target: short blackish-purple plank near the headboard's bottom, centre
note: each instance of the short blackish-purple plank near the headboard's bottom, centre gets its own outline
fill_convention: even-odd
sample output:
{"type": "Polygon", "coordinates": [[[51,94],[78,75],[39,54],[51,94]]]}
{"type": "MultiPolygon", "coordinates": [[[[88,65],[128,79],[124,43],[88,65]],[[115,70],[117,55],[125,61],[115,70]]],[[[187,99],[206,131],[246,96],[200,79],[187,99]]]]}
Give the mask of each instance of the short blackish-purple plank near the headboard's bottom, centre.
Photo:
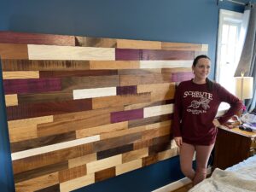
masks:
{"type": "Polygon", "coordinates": [[[110,148],[108,150],[99,151],[97,152],[97,160],[102,160],[102,159],[114,156],[116,154],[124,154],[132,150],[133,150],[133,144],[131,143],[131,144],[117,147],[117,148],[110,148]]]}

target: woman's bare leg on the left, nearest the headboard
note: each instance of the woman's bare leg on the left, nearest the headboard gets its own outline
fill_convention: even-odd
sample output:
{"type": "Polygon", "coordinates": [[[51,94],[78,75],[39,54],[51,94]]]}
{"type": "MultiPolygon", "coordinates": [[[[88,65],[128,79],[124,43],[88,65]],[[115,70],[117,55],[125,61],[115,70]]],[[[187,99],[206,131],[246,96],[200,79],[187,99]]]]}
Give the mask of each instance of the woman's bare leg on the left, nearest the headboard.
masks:
{"type": "Polygon", "coordinates": [[[180,148],[180,166],[183,174],[191,180],[195,177],[195,171],[192,167],[192,160],[195,153],[195,146],[183,143],[180,148]]]}

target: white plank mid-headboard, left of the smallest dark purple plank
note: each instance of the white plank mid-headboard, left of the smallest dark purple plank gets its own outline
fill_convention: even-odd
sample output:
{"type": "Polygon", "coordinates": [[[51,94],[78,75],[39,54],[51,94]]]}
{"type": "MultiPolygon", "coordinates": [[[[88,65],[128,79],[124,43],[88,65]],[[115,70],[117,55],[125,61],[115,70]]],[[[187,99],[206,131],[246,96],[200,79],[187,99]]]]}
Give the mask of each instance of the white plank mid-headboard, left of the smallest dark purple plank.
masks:
{"type": "Polygon", "coordinates": [[[116,96],[116,87],[73,90],[73,99],[95,98],[100,96],[116,96]]]}

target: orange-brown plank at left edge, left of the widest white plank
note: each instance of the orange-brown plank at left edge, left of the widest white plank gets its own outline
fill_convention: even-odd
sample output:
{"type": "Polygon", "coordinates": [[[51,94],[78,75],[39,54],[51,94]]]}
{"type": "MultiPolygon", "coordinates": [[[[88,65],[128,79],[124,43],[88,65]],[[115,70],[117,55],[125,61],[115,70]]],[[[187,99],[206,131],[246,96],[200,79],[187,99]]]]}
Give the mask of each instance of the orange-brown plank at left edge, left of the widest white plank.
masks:
{"type": "Polygon", "coordinates": [[[28,59],[26,44],[0,44],[1,59],[28,59]]]}

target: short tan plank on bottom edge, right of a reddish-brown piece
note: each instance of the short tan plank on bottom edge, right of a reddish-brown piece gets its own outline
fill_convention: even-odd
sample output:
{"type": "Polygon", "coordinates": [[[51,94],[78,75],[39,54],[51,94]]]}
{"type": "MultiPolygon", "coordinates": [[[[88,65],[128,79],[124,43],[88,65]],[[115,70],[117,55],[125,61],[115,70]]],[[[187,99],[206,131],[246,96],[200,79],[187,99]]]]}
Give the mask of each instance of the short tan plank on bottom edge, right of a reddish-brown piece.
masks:
{"type": "Polygon", "coordinates": [[[116,175],[120,175],[120,174],[123,174],[125,172],[131,172],[133,170],[141,168],[142,166],[143,166],[143,160],[142,159],[132,160],[130,162],[127,162],[127,163],[121,164],[119,166],[116,166],[115,172],[116,172],[116,175]]]}

